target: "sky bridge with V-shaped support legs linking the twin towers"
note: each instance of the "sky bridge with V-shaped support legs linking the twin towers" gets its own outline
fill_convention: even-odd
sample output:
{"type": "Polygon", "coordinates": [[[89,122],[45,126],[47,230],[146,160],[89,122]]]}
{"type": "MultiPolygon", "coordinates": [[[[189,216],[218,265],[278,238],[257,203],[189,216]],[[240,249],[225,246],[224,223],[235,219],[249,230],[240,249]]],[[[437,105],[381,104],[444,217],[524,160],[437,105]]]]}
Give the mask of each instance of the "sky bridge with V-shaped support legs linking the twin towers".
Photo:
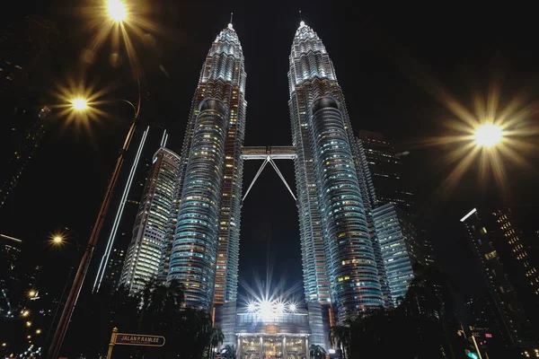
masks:
{"type": "Polygon", "coordinates": [[[271,167],[277,172],[278,177],[283,181],[285,186],[288,189],[288,192],[290,192],[290,195],[294,198],[295,201],[297,201],[296,196],[294,195],[294,191],[288,186],[287,180],[285,180],[284,176],[280,171],[278,171],[277,164],[274,162],[274,160],[295,160],[296,159],[296,148],[294,146],[243,146],[242,148],[242,160],[262,160],[261,168],[258,172],[256,172],[256,175],[254,175],[254,178],[252,179],[251,185],[249,185],[249,188],[245,191],[245,194],[243,195],[242,201],[245,200],[245,197],[249,194],[251,191],[252,186],[254,185],[254,182],[258,180],[259,176],[261,175],[261,172],[266,167],[266,164],[270,163],[271,167]]]}

